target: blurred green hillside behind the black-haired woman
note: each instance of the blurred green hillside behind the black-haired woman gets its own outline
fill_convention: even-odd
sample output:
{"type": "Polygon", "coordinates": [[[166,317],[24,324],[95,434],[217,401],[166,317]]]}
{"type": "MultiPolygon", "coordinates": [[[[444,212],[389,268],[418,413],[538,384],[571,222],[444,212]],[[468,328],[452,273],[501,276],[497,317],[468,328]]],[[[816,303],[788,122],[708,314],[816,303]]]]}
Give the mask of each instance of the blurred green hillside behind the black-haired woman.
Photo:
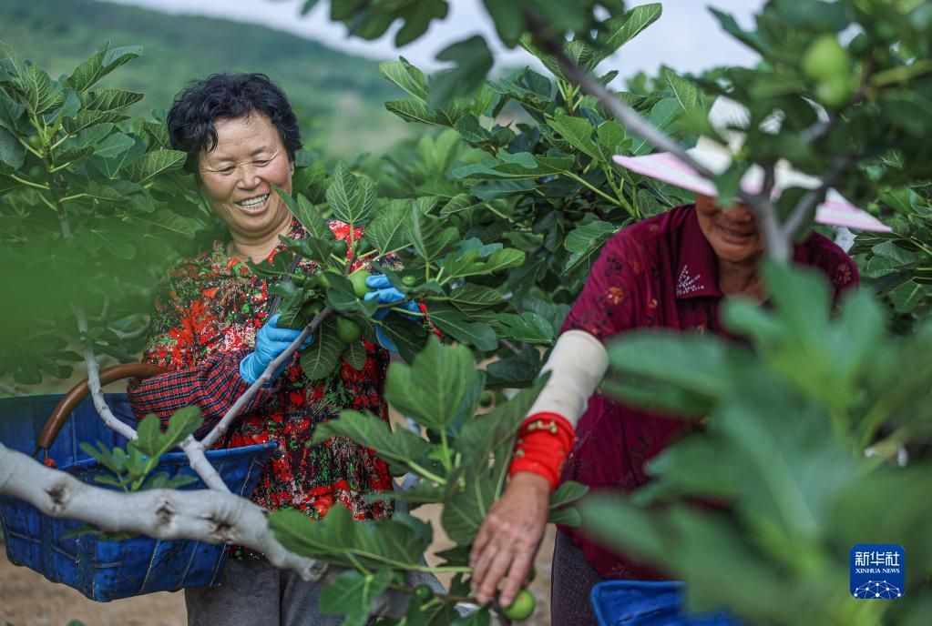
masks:
{"type": "MultiPolygon", "coordinates": [[[[291,10],[267,4],[270,11],[291,10]]],[[[105,82],[143,92],[137,113],[167,109],[191,79],[251,71],[267,73],[284,88],[306,147],[318,152],[349,158],[380,153],[410,132],[382,105],[399,92],[378,75],[377,62],[263,26],[96,0],[2,0],[0,40],[52,75],[70,73],[107,41],[143,46],[141,59],[105,82]]]]}

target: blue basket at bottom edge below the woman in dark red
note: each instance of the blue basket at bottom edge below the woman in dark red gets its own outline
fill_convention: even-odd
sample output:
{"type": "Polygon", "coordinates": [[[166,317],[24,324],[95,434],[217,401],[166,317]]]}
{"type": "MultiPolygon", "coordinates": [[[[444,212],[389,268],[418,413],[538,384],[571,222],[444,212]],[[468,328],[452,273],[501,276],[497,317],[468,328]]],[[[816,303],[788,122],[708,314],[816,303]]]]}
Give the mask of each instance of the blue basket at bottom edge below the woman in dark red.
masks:
{"type": "Polygon", "coordinates": [[[592,590],[599,626],[742,626],[724,612],[683,612],[679,580],[606,580],[592,590]]]}

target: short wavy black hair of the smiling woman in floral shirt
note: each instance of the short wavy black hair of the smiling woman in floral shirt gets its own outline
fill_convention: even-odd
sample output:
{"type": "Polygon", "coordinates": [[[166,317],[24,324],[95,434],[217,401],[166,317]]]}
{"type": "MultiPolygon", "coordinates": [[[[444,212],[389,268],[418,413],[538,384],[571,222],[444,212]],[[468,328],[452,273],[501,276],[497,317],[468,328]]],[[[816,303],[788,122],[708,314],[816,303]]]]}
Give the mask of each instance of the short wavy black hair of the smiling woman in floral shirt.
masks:
{"type": "Polygon", "coordinates": [[[279,131],[288,160],[301,149],[297,118],[284,92],[264,73],[215,73],[192,81],[168,114],[171,147],[187,153],[185,169],[198,175],[198,156],[217,145],[217,120],[262,113],[279,131]]]}

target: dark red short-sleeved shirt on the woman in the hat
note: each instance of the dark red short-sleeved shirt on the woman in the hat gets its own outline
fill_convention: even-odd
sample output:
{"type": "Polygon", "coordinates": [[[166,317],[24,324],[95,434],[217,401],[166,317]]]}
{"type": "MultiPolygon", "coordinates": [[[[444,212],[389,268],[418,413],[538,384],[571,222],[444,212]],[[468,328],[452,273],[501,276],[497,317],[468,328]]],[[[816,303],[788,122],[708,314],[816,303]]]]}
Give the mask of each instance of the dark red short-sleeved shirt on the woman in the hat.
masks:
{"type": "MultiPolygon", "coordinates": [[[[813,233],[794,247],[793,260],[821,270],[836,296],[857,286],[857,266],[829,239],[813,233]]],[[[602,249],[583,293],[563,325],[605,341],[635,328],[727,333],[719,324],[718,260],[693,206],[679,206],[615,234],[602,249]]],[[[648,482],[645,463],[694,422],[620,406],[596,392],[576,427],[576,444],[563,472],[592,491],[632,491],[648,482]]],[[[612,553],[562,527],[589,562],[609,579],[663,579],[662,574],[612,553]]]]}

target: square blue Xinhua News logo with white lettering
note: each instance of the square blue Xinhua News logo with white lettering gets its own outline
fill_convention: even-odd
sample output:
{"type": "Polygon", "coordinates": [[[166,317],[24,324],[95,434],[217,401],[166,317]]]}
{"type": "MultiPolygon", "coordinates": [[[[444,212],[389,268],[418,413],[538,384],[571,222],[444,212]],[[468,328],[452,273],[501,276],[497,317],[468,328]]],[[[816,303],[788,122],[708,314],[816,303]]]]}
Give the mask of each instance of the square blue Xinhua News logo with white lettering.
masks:
{"type": "Polygon", "coordinates": [[[851,549],[851,594],[859,600],[896,600],[906,593],[906,552],[896,543],[858,543],[851,549]]]}

